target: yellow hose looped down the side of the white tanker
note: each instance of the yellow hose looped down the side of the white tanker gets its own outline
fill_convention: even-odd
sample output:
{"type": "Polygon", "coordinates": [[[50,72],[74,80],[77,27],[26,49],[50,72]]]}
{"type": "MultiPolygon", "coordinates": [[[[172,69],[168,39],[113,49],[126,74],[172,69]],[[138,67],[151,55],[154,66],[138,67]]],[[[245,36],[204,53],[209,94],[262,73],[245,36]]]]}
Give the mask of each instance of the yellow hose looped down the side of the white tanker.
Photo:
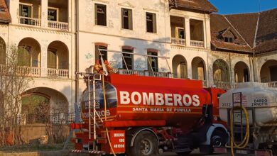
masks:
{"type": "MultiPolygon", "coordinates": [[[[241,118],[242,118],[242,116],[241,116],[241,118]]],[[[242,148],[245,148],[249,143],[249,136],[250,136],[249,114],[248,114],[248,111],[246,110],[246,108],[244,106],[235,106],[234,108],[232,108],[232,110],[231,110],[231,119],[230,119],[230,128],[231,128],[231,130],[230,130],[231,131],[231,152],[232,152],[232,156],[234,156],[234,147],[242,149],[242,148]],[[244,139],[242,140],[241,143],[239,143],[239,145],[237,145],[237,143],[234,142],[234,119],[233,119],[234,110],[244,111],[244,115],[245,115],[245,118],[246,118],[246,134],[244,135],[244,139]]]]}

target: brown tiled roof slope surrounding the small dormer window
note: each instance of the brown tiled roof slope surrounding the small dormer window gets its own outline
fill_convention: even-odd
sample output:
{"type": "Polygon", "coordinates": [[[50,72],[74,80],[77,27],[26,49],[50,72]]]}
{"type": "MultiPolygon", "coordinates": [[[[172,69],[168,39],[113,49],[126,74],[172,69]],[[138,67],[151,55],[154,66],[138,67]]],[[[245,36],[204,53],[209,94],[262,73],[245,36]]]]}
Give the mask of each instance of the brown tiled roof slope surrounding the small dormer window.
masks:
{"type": "Polygon", "coordinates": [[[251,47],[247,45],[245,40],[241,38],[241,35],[237,32],[235,28],[227,21],[222,15],[211,14],[211,43],[214,48],[220,50],[232,50],[239,52],[253,52],[251,47]],[[230,31],[234,35],[234,43],[224,42],[222,36],[226,31],[230,31]]]}

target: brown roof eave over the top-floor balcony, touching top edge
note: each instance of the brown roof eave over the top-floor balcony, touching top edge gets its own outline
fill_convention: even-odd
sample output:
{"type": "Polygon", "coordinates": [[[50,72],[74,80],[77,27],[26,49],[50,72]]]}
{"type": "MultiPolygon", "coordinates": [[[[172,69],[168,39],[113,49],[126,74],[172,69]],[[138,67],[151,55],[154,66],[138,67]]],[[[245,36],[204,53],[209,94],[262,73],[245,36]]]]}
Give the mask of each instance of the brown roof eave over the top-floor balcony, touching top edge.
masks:
{"type": "MultiPolygon", "coordinates": [[[[199,11],[217,12],[217,8],[213,6],[210,1],[207,0],[175,0],[177,4],[175,6],[180,8],[195,9],[199,11]]],[[[171,1],[171,6],[174,6],[174,2],[171,1]]]]}

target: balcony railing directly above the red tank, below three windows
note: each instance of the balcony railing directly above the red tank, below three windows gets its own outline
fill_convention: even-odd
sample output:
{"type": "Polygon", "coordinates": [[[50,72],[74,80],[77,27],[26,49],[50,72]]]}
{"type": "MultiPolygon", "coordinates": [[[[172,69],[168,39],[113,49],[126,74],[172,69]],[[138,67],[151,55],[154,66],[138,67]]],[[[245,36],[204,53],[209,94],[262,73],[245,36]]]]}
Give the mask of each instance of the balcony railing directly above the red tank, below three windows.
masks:
{"type": "Polygon", "coordinates": [[[127,70],[127,69],[119,69],[119,74],[136,74],[139,76],[146,76],[146,77],[165,77],[165,78],[172,78],[172,74],[168,72],[149,72],[148,70],[127,70]]]}

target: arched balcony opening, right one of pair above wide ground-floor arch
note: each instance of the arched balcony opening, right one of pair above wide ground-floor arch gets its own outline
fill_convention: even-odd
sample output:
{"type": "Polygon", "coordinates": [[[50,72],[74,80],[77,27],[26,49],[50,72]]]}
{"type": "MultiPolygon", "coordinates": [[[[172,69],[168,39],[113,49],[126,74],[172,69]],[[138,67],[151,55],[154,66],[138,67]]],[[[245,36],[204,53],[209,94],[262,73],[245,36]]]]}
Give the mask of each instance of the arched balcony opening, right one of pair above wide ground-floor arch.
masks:
{"type": "Polygon", "coordinates": [[[48,46],[48,76],[68,77],[68,48],[65,43],[54,41],[48,46]]]}

